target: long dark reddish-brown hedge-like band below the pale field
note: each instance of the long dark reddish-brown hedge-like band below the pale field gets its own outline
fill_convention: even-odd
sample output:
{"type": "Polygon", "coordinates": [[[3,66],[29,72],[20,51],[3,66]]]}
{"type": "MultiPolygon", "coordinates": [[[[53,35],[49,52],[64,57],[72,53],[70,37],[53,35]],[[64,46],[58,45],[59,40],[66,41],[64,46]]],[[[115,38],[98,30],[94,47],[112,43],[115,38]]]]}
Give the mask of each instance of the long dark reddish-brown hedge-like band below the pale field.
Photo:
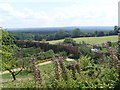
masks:
{"type": "Polygon", "coordinates": [[[72,46],[64,46],[64,45],[53,45],[49,43],[40,43],[40,42],[29,42],[29,41],[16,41],[16,45],[21,48],[29,48],[29,47],[40,47],[44,52],[52,49],[55,53],[65,51],[67,55],[74,54],[74,56],[78,56],[78,47],[72,46]],[[25,46],[24,46],[25,45],[25,46]]]}

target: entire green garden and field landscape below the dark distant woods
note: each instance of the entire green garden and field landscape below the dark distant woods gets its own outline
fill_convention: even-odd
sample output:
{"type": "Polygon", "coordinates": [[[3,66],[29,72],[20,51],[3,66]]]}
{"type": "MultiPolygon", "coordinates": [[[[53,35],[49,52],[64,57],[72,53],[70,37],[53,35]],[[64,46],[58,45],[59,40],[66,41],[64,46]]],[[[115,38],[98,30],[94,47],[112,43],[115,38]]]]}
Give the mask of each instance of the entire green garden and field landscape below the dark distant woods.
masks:
{"type": "MultiPolygon", "coordinates": [[[[29,36],[17,40],[15,34],[18,33],[2,28],[1,31],[3,57],[0,77],[3,78],[3,88],[82,89],[119,86],[117,47],[120,36],[116,34],[119,27],[112,31],[113,36],[105,36],[103,33],[106,32],[102,32],[104,36],[101,37],[80,37],[80,29],[74,29],[69,35],[79,38],[66,37],[54,41],[27,40],[29,36]]],[[[58,31],[61,32],[65,33],[58,31]]]]}

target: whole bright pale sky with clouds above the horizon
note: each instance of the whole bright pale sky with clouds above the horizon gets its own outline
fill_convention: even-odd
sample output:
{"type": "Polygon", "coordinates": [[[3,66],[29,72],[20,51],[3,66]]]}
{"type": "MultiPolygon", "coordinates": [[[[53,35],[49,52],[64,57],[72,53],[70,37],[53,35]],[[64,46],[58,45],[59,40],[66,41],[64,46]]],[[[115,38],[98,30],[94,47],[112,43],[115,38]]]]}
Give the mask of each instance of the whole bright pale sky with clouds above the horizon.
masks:
{"type": "Polygon", "coordinates": [[[3,28],[115,26],[119,0],[0,0],[3,28]]]}

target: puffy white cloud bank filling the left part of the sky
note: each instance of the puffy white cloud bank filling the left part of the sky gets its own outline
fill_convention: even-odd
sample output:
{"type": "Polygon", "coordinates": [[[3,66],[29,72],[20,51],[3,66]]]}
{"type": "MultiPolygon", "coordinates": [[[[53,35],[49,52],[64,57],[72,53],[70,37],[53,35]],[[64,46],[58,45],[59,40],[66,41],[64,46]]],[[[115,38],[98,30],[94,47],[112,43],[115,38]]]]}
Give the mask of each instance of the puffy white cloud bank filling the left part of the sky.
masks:
{"type": "Polygon", "coordinates": [[[10,4],[0,4],[0,24],[3,27],[32,27],[47,25],[51,19],[44,11],[25,8],[16,11],[10,4]]]}

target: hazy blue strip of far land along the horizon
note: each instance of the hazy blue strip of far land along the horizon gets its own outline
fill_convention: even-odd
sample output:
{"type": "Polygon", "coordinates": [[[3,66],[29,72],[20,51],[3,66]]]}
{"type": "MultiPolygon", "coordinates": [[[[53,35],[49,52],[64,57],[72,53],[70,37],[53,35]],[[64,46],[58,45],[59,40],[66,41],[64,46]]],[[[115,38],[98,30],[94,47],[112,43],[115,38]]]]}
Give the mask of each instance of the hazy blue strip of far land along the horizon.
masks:
{"type": "Polygon", "coordinates": [[[56,32],[59,30],[64,30],[64,31],[72,31],[76,28],[79,28],[81,31],[89,31],[89,32],[93,32],[93,31],[113,31],[114,30],[114,26],[68,26],[68,27],[32,27],[32,28],[7,28],[7,31],[17,31],[17,32],[21,32],[21,31],[27,31],[27,32],[43,32],[43,31],[52,31],[52,32],[56,32]]]}

